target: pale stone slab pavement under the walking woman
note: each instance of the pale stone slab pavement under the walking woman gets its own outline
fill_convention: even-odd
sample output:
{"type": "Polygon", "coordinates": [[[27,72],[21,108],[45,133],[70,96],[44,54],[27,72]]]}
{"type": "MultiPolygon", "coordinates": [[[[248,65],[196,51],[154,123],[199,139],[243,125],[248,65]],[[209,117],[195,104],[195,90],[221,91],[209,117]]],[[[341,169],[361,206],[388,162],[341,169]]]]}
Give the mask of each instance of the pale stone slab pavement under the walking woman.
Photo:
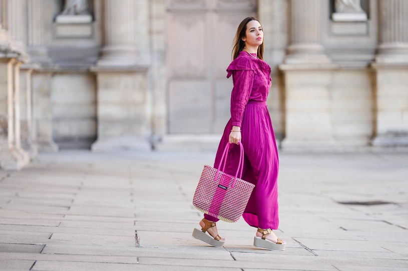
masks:
{"type": "Polygon", "coordinates": [[[281,153],[284,251],[253,247],[242,219],[218,223],[224,247],[191,237],[192,195],[213,158],[61,151],[0,171],[0,269],[408,269],[406,153],[281,153]],[[339,203],[352,201],[367,205],[339,203]]]}

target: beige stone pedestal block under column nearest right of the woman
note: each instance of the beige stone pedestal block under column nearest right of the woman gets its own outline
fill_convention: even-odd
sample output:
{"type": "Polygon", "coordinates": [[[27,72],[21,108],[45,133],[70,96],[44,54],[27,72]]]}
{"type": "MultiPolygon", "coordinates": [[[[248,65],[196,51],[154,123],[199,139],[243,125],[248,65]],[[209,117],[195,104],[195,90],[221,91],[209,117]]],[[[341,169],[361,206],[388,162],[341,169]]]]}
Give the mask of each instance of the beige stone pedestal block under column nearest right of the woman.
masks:
{"type": "Polygon", "coordinates": [[[302,148],[307,143],[331,147],[331,70],[298,70],[285,67],[285,139],[283,148],[302,148]],[[303,143],[302,143],[303,142],[303,143]],[[312,143],[314,142],[314,143],[312,143]]]}

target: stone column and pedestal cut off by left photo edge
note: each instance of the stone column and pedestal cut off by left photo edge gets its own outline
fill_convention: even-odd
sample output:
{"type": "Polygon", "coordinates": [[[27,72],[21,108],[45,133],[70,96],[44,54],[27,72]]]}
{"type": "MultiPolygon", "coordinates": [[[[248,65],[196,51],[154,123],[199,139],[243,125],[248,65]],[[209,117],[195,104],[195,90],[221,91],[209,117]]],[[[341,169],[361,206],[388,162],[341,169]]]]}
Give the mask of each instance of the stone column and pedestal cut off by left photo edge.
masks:
{"type": "Polygon", "coordinates": [[[22,61],[27,61],[25,26],[16,25],[21,24],[22,3],[0,1],[0,167],[6,170],[19,170],[29,162],[20,138],[19,72],[22,61]]]}

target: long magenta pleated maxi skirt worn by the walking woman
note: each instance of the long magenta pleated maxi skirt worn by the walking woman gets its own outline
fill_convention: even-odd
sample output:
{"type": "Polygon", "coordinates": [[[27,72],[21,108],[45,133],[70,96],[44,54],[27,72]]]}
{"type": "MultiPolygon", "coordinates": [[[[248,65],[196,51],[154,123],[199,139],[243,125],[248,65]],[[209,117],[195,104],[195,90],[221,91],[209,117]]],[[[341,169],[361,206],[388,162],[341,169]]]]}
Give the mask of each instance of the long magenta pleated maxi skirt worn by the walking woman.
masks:
{"type": "MultiPolygon", "coordinates": [[[[214,167],[216,168],[228,143],[231,128],[230,119],[225,126],[215,156],[214,167]]],[[[253,227],[277,229],[279,157],[266,101],[248,101],[242,118],[241,136],[245,152],[242,179],[255,184],[242,216],[253,227]]],[[[226,173],[235,175],[239,151],[239,146],[236,144],[230,147],[225,166],[226,173]]],[[[204,217],[212,221],[218,220],[208,214],[204,214],[204,217]]]]}

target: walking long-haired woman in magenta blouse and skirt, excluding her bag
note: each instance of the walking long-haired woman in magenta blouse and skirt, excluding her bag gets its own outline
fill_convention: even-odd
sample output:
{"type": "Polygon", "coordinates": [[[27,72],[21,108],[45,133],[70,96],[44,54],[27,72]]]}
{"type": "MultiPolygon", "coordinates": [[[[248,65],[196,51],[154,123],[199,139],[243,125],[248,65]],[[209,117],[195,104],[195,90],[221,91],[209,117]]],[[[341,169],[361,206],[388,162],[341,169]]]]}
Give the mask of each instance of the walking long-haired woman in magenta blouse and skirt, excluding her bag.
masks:
{"type": "MultiPolygon", "coordinates": [[[[242,142],[245,153],[242,179],[255,184],[242,216],[250,226],[257,228],[255,246],[283,250],[286,243],[272,231],[279,224],[279,159],[266,105],[272,81],[271,68],[263,61],[263,31],[258,19],[247,17],[239,24],[233,59],[227,68],[227,78],[232,75],[234,85],[231,118],[219,143],[214,167],[218,166],[225,145],[233,143],[224,172],[234,175],[240,153],[239,146],[235,144],[242,142]]],[[[225,240],[218,234],[217,221],[216,217],[204,214],[200,221],[201,231],[195,231],[193,236],[214,246],[222,246],[225,240]]]]}

